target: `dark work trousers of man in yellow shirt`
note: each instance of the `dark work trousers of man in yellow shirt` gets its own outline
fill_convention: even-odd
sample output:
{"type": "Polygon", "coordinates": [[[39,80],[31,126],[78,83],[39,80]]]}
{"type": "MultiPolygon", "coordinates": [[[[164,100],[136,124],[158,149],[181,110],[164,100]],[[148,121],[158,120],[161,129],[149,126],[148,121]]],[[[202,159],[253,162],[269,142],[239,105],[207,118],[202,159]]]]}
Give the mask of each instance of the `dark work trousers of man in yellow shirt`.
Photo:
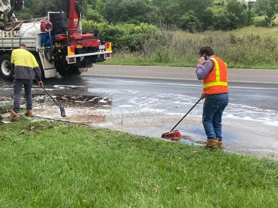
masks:
{"type": "Polygon", "coordinates": [[[24,92],[25,92],[25,99],[26,99],[26,109],[31,110],[32,109],[32,85],[33,80],[28,79],[14,79],[13,80],[13,111],[15,113],[19,112],[20,108],[20,98],[21,98],[21,90],[22,85],[24,86],[24,92]]]}

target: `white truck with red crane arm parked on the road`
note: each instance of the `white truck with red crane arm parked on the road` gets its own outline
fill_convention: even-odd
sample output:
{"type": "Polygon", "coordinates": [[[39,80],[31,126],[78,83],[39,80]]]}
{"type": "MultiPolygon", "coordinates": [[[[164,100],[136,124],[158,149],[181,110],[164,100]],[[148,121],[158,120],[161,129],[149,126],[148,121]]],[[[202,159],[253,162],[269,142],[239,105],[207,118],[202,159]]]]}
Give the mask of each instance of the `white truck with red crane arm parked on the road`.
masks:
{"type": "Polygon", "coordinates": [[[0,0],[0,76],[13,79],[11,51],[24,43],[41,69],[42,78],[76,76],[92,63],[111,58],[111,43],[98,36],[98,30],[82,30],[81,1],[65,0],[67,11],[48,12],[46,17],[23,19],[23,0],[0,0]],[[39,25],[39,30],[35,30],[39,25]],[[28,31],[35,31],[28,34],[28,31]],[[23,31],[24,30],[24,31],[23,31]],[[25,33],[24,33],[25,32],[25,33]]]}

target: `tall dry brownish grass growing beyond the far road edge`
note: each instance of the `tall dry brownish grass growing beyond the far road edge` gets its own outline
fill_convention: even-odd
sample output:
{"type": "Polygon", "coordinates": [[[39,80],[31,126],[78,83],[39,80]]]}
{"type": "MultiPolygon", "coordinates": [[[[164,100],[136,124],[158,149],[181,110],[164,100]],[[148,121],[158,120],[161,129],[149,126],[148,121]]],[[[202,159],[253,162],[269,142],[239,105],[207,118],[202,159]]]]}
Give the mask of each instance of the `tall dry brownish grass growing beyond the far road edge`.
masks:
{"type": "Polygon", "coordinates": [[[199,48],[210,46],[217,56],[233,65],[278,64],[278,41],[271,33],[267,36],[223,31],[189,33],[177,27],[159,26],[156,31],[139,34],[136,42],[135,52],[118,51],[116,57],[124,56],[126,60],[130,55],[130,61],[137,63],[193,63],[198,58],[199,48]]]}

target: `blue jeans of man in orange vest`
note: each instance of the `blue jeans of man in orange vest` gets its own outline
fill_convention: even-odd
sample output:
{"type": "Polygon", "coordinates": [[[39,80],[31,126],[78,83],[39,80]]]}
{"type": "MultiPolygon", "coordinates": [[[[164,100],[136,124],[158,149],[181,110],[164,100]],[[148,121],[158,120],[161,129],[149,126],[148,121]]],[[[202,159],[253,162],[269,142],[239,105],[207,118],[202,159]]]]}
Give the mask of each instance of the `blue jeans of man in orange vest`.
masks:
{"type": "Polygon", "coordinates": [[[205,96],[202,124],[207,139],[222,140],[222,114],[228,102],[228,93],[205,96]]]}

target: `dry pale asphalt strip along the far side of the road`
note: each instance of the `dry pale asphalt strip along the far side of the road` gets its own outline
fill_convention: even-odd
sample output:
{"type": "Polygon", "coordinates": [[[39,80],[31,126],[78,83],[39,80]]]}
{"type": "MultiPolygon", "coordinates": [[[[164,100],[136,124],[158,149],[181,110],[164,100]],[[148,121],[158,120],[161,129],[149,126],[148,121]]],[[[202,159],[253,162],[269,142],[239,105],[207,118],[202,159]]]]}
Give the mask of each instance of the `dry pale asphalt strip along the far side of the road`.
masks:
{"type": "MultiPolygon", "coordinates": [[[[278,84],[278,70],[228,69],[228,73],[228,79],[232,82],[278,84]]],[[[188,67],[95,65],[93,69],[83,74],[109,77],[196,80],[195,68],[188,67]]]]}

